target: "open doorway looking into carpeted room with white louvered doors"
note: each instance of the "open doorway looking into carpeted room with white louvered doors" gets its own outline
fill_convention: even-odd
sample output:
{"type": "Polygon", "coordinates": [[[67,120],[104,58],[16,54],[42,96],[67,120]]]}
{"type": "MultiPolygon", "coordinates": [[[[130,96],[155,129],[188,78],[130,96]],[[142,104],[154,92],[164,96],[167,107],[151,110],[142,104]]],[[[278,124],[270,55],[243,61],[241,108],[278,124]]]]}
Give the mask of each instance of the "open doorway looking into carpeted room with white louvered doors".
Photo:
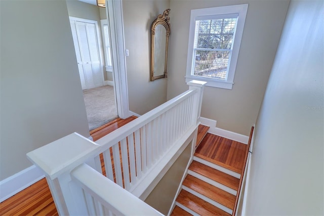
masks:
{"type": "MultiPolygon", "coordinates": [[[[102,22],[102,24],[107,25],[107,22],[102,22]]],[[[102,28],[102,34],[100,34],[96,20],[70,17],[70,25],[89,130],[92,131],[118,118],[113,81],[111,80],[112,66],[109,43],[107,45],[109,42],[108,31],[107,27],[102,28]],[[102,40],[101,35],[103,36],[102,40]],[[110,80],[107,80],[108,75],[110,75],[110,80]]]]}

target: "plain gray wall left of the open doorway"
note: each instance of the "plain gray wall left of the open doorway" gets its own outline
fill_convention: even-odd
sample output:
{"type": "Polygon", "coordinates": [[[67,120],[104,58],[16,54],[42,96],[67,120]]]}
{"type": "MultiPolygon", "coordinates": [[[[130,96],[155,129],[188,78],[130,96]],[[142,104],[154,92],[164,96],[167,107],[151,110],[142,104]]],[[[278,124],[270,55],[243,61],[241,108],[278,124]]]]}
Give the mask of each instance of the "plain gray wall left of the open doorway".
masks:
{"type": "Polygon", "coordinates": [[[74,131],[89,137],[65,1],[0,1],[0,180],[26,153],[74,131]]]}

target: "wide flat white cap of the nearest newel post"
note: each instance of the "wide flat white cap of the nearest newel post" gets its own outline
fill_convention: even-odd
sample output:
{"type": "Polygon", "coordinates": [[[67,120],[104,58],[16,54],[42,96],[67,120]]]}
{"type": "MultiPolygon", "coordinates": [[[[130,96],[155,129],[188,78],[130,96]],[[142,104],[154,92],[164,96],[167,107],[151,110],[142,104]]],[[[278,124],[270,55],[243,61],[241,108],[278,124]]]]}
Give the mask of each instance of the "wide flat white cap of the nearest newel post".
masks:
{"type": "Polygon", "coordinates": [[[99,153],[98,144],[74,132],[27,153],[27,158],[53,180],[99,153]]]}

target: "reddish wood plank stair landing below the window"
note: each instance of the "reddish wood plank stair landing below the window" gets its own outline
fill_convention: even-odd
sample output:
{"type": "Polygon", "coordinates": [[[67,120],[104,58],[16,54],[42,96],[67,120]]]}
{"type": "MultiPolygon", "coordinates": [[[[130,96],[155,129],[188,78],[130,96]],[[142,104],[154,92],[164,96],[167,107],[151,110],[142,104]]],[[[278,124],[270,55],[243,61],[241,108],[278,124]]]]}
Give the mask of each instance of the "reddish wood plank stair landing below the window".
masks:
{"type": "Polygon", "coordinates": [[[247,150],[244,143],[207,133],[195,156],[241,173],[247,150]]]}

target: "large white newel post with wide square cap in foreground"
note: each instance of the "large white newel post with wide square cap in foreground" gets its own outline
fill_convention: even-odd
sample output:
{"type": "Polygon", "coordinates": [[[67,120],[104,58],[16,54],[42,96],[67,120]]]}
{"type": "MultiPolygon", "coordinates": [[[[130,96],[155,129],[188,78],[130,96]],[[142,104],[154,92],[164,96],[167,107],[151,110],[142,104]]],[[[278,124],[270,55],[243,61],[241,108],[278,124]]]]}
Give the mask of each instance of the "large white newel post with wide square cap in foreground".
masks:
{"type": "Polygon", "coordinates": [[[71,180],[70,172],[83,163],[94,164],[100,146],[72,133],[27,153],[27,158],[45,172],[60,215],[88,215],[83,191],[71,180]]]}

